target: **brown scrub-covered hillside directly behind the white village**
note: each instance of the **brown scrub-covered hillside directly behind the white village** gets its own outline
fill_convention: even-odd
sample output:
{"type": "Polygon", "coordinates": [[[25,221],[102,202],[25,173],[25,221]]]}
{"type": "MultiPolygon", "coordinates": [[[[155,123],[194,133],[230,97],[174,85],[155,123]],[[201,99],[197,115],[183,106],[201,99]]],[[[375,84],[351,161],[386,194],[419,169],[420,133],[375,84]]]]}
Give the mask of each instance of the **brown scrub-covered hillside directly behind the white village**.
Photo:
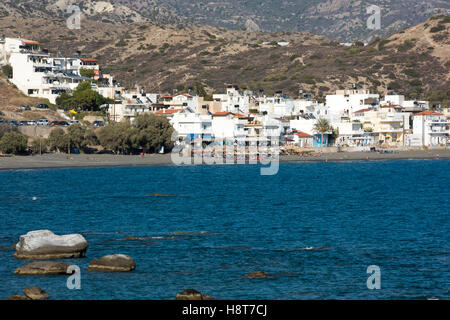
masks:
{"type": "Polygon", "coordinates": [[[351,48],[304,32],[91,20],[83,20],[82,32],[64,26],[62,19],[0,19],[6,35],[26,35],[65,55],[80,49],[98,58],[103,71],[125,85],[139,84],[148,91],[184,90],[201,82],[210,93],[238,84],[268,93],[282,89],[294,96],[303,89],[320,98],[359,84],[382,93],[395,90],[410,98],[442,100],[450,87],[448,16],[435,16],[369,46],[351,48]],[[279,46],[279,41],[289,45],[279,46]]]}

